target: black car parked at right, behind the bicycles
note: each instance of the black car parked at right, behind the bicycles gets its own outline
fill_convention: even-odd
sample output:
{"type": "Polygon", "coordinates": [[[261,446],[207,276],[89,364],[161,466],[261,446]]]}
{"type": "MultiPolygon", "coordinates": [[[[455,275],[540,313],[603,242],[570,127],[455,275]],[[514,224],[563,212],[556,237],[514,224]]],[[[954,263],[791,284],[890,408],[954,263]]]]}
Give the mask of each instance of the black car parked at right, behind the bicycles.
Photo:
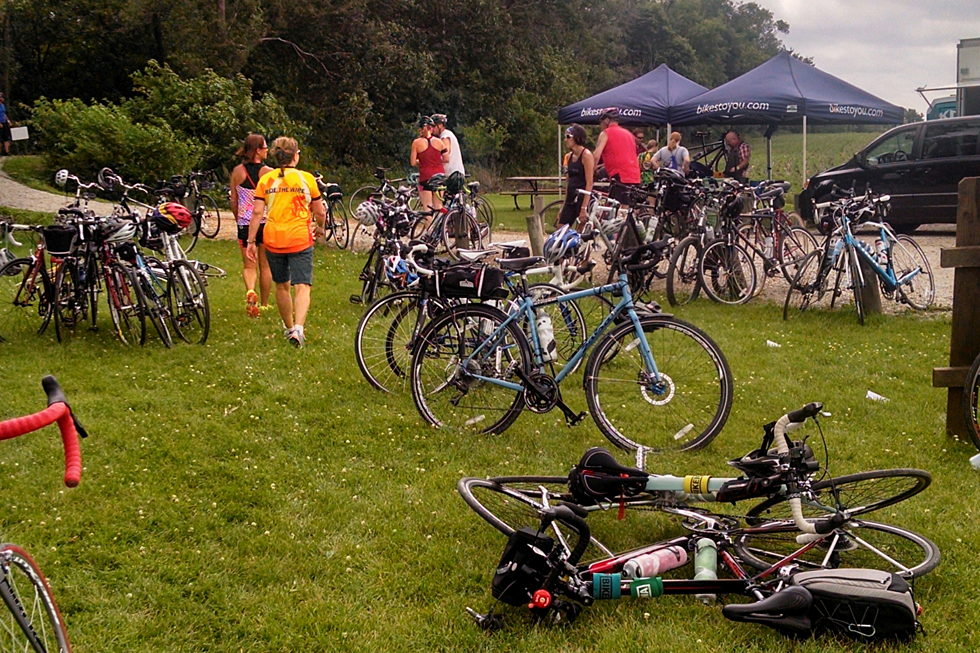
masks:
{"type": "Polygon", "coordinates": [[[833,185],[891,196],[888,222],[910,233],[933,222],[956,222],[957,185],[980,177],[980,116],[930,120],[885,132],[847,163],[813,177],[796,209],[813,222],[812,201],[826,202],[833,185]]]}

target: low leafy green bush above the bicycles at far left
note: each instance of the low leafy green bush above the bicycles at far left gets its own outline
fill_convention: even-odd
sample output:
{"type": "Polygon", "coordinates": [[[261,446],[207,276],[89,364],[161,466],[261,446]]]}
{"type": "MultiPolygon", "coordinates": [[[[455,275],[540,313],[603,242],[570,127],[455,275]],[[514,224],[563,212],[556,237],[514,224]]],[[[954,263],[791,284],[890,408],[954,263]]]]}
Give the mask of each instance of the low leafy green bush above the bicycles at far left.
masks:
{"type": "Polygon", "coordinates": [[[48,167],[68,168],[81,179],[109,166],[123,179],[152,182],[200,161],[198,148],[166,123],[136,123],[113,104],[41,98],[31,124],[48,167]]]}

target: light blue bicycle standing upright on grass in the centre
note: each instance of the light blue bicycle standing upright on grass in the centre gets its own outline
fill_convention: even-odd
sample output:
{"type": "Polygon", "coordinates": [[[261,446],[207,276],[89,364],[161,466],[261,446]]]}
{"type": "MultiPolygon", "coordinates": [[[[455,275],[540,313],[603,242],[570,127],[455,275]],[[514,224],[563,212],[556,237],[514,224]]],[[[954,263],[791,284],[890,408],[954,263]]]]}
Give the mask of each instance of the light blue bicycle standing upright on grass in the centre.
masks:
{"type": "MultiPolygon", "coordinates": [[[[633,266],[629,259],[662,247],[636,248],[613,284],[540,301],[525,296],[508,313],[464,304],[434,318],[412,355],[412,398],[419,413],[434,426],[483,433],[503,432],[525,406],[535,413],[557,407],[569,425],[578,424],[586,413],[565,404],[560,384],[591,349],[583,385],[603,435],[627,450],[705,446],[731,408],[728,363],[697,327],[672,316],[638,316],[627,281],[627,272],[651,265],[633,266]],[[608,293],[621,294],[619,303],[552,377],[546,372],[550,342],[542,339],[548,334],[537,324],[538,309],[608,293]],[[618,319],[622,323],[606,333],[618,319]],[[655,433],[658,441],[641,432],[655,433]]],[[[521,273],[539,262],[530,257],[499,264],[521,273]]]]}

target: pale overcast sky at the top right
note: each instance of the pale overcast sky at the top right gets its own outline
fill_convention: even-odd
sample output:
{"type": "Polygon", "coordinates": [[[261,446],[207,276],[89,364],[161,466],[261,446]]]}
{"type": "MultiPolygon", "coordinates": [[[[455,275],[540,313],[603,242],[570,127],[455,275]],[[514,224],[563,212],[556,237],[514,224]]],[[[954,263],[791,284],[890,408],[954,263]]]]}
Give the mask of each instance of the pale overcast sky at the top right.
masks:
{"type": "Polygon", "coordinates": [[[817,68],[922,114],[927,105],[915,89],[955,83],[956,44],[980,37],[978,0],[754,2],[789,23],[783,43],[817,68]]]}

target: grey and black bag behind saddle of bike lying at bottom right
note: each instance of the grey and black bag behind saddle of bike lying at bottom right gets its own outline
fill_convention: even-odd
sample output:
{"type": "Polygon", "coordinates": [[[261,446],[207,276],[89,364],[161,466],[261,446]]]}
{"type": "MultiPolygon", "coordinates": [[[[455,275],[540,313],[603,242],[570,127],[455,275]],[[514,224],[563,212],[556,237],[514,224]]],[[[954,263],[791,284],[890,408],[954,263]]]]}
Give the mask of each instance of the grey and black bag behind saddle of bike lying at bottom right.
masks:
{"type": "Polygon", "coordinates": [[[813,596],[814,632],[830,631],[871,642],[911,639],[921,628],[912,589],[901,576],[876,569],[827,569],[794,575],[813,596]]]}

